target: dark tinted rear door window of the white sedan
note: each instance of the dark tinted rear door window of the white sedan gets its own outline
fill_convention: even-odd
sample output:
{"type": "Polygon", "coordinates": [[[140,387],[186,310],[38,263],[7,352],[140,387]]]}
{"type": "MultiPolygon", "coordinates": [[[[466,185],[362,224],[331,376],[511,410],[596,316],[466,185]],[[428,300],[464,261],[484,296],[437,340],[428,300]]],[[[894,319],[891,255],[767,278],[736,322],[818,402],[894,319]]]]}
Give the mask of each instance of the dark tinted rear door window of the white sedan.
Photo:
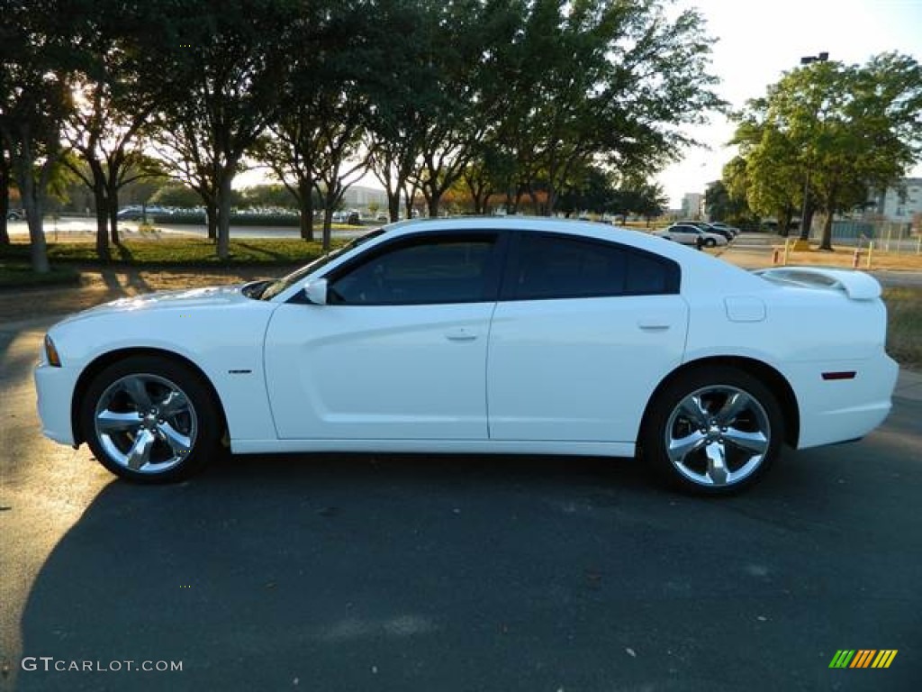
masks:
{"type": "Polygon", "coordinates": [[[545,300],[677,293],[679,277],[672,260],[625,245],[520,233],[503,282],[503,297],[545,300]]]}

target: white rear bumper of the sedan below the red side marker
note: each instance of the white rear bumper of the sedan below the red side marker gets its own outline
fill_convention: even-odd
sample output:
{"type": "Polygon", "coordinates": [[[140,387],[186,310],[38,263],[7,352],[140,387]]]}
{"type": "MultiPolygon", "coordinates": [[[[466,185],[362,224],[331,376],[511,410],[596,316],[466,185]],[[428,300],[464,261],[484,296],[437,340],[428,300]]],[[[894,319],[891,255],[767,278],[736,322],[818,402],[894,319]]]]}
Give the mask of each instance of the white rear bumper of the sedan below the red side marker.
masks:
{"type": "Polygon", "coordinates": [[[899,365],[889,356],[859,361],[795,364],[789,382],[798,383],[798,449],[854,440],[883,423],[892,407],[899,365]],[[823,372],[855,372],[852,379],[822,378],[823,372]]]}

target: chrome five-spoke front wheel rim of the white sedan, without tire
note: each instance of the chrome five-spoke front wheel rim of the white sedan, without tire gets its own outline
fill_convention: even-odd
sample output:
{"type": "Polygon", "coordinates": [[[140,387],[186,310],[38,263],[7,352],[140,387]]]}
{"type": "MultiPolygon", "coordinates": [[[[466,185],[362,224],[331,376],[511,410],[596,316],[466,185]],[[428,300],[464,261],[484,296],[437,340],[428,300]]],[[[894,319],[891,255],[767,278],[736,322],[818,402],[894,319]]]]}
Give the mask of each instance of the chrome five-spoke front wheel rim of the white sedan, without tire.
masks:
{"type": "Polygon", "coordinates": [[[162,473],[195,447],[195,407],[175,383],[132,374],[102,392],[93,415],[100,446],[115,464],[139,473],[162,473]]]}

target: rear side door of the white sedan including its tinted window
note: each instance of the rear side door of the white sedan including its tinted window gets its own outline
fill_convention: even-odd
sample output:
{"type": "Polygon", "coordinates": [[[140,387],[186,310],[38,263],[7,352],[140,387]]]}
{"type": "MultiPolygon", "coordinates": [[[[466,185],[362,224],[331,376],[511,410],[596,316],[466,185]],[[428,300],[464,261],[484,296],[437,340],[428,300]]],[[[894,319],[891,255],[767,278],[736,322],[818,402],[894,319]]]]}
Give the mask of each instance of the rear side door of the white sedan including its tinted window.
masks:
{"type": "Polygon", "coordinates": [[[491,324],[491,439],[633,442],[650,394],[682,359],[679,285],[664,257],[519,233],[491,324]]]}

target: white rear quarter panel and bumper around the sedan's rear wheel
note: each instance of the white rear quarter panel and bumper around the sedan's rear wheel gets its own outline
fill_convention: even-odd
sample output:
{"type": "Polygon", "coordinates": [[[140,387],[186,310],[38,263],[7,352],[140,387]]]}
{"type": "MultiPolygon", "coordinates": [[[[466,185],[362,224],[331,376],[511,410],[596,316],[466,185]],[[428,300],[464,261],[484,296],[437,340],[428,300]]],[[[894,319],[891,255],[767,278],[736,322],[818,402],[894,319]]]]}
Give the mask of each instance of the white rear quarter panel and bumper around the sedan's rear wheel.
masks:
{"type": "Polygon", "coordinates": [[[772,366],[797,400],[800,448],[855,439],[881,424],[898,370],[884,351],[887,315],[881,300],[764,283],[746,292],[688,295],[686,362],[742,356],[772,366]],[[764,305],[762,319],[754,311],[731,319],[733,304],[753,303],[764,305]],[[854,376],[826,379],[824,373],[854,376]]]}

